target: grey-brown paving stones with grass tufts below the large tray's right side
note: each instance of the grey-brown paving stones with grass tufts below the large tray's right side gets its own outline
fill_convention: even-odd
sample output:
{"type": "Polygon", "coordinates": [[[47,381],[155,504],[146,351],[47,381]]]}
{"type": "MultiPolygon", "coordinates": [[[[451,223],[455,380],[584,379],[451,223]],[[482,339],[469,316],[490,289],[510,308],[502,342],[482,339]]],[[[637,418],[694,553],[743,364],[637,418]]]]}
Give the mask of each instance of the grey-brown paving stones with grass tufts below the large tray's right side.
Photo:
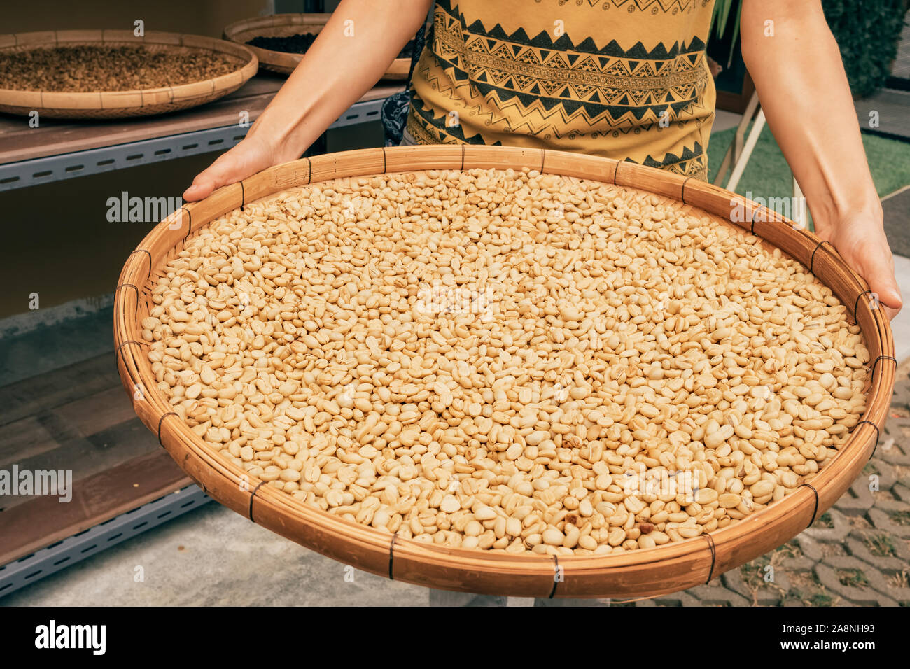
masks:
{"type": "Polygon", "coordinates": [[[627,606],[910,606],[910,363],[875,455],[793,541],[681,593],[627,606]]]}

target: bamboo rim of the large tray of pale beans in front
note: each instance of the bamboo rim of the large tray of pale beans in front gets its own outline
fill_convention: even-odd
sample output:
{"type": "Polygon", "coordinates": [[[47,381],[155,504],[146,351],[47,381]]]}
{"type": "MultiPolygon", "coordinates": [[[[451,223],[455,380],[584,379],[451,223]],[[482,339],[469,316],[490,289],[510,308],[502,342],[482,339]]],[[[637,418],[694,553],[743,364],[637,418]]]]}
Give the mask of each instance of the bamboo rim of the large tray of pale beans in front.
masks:
{"type": "Polygon", "coordinates": [[[210,496],[268,529],[370,573],[435,588],[537,597],[639,597],[707,583],[773,550],[802,532],[853,483],[875,450],[895,380],[891,329],[884,309],[874,308],[868,292],[863,279],[844,265],[830,244],[820,243],[813,234],[794,228],[790,221],[750,200],[693,178],[561,151],[460,145],[389,147],[270,167],[179,209],[153,228],[127,258],[116,289],[114,331],[120,376],[141,420],[210,496]],[[596,557],[562,556],[557,561],[551,556],[444,548],[340,519],[261,485],[222,460],[170,411],[167,400],[157,392],[140,323],[147,316],[161,268],[183,248],[188,236],[252,200],[333,177],[471,167],[529,167],[638,188],[683,208],[708,212],[718,225],[732,225],[733,205],[741,205],[747,217],[738,224],[740,228],[753,229],[766,243],[811,268],[855,315],[874,362],[863,420],[811,484],[740,522],[653,549],[596,557]]]}

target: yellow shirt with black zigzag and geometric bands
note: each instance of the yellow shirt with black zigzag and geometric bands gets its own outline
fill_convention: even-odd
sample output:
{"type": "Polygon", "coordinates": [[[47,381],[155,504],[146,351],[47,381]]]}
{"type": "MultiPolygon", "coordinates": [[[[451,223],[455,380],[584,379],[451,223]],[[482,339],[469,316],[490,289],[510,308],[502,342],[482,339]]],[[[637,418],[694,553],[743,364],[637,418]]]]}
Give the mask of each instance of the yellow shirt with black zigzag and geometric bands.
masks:
{"type": "Polygon", "coordinates": [[[420,144],[545,147],[707,178],[713,0],[438,0],[420,144]]]}

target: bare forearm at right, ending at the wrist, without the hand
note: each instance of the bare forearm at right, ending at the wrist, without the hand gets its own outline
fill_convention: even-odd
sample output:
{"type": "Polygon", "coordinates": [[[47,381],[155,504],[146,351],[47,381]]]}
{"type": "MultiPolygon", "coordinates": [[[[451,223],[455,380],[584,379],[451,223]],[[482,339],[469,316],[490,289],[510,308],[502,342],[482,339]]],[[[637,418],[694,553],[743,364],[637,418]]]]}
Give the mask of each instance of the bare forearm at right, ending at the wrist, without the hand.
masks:
{"type": "Polygon", "coordinates": [[[847,212],[880,209],[840,51],[821,3],[743,0],[741,33],[743,60],[768,126],[816,228],[834,225],[847,212]],[[773,36],[766,35],[772,29],[773,36]]]}

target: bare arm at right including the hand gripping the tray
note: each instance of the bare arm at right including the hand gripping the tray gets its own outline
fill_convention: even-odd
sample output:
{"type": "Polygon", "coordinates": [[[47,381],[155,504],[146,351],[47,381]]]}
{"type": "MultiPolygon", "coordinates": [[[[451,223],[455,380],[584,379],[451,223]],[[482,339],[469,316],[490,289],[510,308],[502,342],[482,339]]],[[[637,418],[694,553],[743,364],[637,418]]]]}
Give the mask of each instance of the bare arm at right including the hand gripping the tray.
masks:
{"type": "Polygon", "coordinates": [[[882,204],[820,0],[743,0],[741,34],[743,60],[805,194],[815,234],[865,279],[870,305],[894,318],[903,299],[882,204]]]}

